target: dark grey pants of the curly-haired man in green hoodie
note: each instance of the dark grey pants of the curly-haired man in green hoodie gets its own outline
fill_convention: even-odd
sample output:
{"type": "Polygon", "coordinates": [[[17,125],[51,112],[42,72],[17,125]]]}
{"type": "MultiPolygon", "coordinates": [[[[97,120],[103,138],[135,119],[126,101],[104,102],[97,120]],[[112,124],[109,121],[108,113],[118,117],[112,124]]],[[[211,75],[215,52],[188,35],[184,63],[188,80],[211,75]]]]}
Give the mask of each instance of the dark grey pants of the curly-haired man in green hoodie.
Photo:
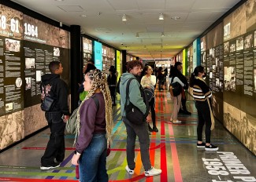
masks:
{"type": "Polygon", "coordinates": [[[128,167],[130,169],[135,168],[135,140],[136,136],[139,138],[140,157],[143,162],[145,170],[151,169],[150,162],[150,136],[148,135],[148,124],[143,122],[141,125],[135,125],[127,118],[123,117],[123,122],[126,127],[127,144],[126,144],[126,157],[128,167]]]}

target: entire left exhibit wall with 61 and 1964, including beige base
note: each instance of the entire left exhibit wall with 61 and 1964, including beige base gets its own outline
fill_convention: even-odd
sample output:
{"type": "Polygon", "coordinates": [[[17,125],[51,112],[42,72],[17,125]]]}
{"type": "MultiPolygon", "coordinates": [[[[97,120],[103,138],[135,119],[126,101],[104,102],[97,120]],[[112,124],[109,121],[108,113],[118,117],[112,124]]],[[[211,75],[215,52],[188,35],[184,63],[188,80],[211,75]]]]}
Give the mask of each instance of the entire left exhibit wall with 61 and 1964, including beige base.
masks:
{"type": "Polygon", "coordinates": [[[0,5],[0,150],[47,126],[40,84],[50,61],[69,85],[69,31],[13,8],[0,5]]]}

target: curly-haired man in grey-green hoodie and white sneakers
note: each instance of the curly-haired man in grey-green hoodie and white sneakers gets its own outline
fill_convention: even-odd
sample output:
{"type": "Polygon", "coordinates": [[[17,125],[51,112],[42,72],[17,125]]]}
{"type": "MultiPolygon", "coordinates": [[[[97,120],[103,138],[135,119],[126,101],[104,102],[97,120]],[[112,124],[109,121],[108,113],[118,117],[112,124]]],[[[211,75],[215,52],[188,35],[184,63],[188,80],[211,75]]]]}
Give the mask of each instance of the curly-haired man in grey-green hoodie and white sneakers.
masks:
{"type": "MultiPolygon", "coordinates": [[[[141,160],[143,163],[143,167],[145,169],[144,175],[146,177],[149,176],[155,176],[161,174],[161,169],[155,169],[153,166],[151,166],[150,162],[150,153],[149,153],[149,147],[150,147],[150,138],[148,135],[148,124],[147,122],[150,122],[151,116],[147,115],[147,122],[144,121],[141,125],[136,125],[132,122],[130,122],[125,115],[124,111],[124,104],[126,101],[126,88],[127,83],[130,78],[136,78],[136,76],[139,76],[141,74],[143,68],[143,64],[139,62],[139,60],[132,60],[129,61],[127,64],[128,72],[124,73],[121,76],[121,84],[120,84],[120,94],[121,94],[121,115],[123,116],[123,122],[126,127],[126,133],[127,133],[127,145],[126,145],[126,156],[127,156],[127,163],[128,166],[125,167],[128,174],[134,174],[135,169],[135,140],[136,136],[139,137],[139,146],[140,146],[140,154],[141,154],[141,160]]],[[[143,102],[143,97],[141,96],[141,91],[139,89],[140,84],[136,79],[132,79],[132,82],[130,82],[128,94],[130,99],[128,102],[132,102],[132,104],[135,107],[138,107],[140,111],[143,112],[145,115],[147,112],[147,106],[143,102]]]]}

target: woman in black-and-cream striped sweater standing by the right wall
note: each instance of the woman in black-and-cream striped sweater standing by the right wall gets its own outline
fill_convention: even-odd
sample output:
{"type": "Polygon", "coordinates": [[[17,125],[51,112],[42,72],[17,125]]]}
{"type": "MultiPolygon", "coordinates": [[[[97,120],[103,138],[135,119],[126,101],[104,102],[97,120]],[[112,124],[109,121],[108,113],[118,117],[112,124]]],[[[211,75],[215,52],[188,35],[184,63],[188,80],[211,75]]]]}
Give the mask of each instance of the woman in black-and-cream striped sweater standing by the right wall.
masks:
{"type": "Polygon", "coordinates": [[[191,74],[190,86],[193,88],[193,98],[198,111],[197,147],[205,148],[206,151],[217,151],[219,148],[210,143],[211,130],[214,129],[214,118],[211,107],[212,91],[204,81],[206,73],[204,67],[195,67],[191,74]],[[202,129],[205,127],[206,143],[202,142],[202,129]]]}

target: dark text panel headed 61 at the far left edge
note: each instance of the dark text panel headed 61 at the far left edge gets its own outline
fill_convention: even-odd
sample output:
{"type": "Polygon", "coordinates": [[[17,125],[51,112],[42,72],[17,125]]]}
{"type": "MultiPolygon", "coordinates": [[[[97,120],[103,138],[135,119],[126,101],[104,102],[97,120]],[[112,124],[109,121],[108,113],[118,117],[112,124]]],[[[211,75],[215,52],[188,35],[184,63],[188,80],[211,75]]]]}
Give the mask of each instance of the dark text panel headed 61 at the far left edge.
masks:
{"type": "Polygon", "coordinates": [[[24,108],[23,13],[0,5],[0,115],[24,108]]]}

